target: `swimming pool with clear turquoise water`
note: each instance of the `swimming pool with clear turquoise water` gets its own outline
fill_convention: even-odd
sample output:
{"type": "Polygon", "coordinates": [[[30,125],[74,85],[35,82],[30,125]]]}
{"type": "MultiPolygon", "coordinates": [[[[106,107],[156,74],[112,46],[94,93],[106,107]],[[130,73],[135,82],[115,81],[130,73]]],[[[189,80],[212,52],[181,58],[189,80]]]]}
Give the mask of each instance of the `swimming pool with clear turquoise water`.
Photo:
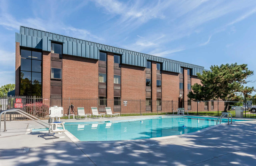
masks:
{"type": "MultiPolygon", "coordinates": [[[[108,122],[65,123],[80,141],[137,140],[196,132],[216,125],[211,117],[154,117],[108,122]]],[[[233,121],[242,121],[233,119],[233,121]]],[[[228,122],[222,119],[222,123],[228,122]]]]}

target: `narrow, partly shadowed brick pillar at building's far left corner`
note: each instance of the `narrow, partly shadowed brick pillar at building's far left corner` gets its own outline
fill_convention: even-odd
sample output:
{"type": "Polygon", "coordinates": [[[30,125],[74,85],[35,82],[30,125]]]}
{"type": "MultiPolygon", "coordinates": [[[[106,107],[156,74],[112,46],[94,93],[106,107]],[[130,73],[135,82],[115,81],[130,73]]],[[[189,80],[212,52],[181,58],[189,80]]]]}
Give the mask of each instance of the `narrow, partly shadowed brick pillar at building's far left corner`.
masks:
{"type": "Polygon", "coordinates": [[[20,43],[15,43],[15,95],[20,95],[20,43]]]}

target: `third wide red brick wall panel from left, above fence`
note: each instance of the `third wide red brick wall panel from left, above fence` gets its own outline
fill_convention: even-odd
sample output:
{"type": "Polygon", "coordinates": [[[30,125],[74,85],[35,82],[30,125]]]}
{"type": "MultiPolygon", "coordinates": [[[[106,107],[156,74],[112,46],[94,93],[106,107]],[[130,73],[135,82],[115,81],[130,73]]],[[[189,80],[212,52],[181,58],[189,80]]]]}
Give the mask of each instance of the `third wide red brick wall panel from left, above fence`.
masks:
{"type": "Polygon", "coordinates": [[[179,73],[162,71],[162,100],[178,101],[179,73]]]}

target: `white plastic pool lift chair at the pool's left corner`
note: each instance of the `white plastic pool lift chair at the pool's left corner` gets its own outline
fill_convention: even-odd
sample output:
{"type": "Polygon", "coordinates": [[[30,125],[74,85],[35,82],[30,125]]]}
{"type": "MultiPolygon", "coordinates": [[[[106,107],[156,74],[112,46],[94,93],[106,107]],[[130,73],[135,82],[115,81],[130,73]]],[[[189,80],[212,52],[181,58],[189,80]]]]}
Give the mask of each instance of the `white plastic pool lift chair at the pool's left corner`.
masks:
{"type": "Polygon", "coordinates": [[[49,133],[58,132],[60,134],[61,132],[66,131],[64,127],[65,122],[60,122],[60,117],[63,117],[63,107],[50,107],[49,117],[52,118],[51,123],[49,123],[49,133]],[[54,119],[56,120],[56,122],[54,122],[54,119]],[[58,129],[58,127],[62,127],[62,129],[58,129]]]}

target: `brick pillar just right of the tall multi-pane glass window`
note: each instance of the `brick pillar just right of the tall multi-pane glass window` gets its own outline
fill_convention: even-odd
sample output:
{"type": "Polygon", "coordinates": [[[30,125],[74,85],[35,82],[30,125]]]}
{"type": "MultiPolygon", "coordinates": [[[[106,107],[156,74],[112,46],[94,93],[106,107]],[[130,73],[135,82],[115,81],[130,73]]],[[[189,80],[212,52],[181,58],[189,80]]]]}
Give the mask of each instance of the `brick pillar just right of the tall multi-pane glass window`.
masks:
{"type": "Polygon", "coordinates": [[[51,94],[51,52],[43,51],[43,98],[50,98],[51,94]]]}

